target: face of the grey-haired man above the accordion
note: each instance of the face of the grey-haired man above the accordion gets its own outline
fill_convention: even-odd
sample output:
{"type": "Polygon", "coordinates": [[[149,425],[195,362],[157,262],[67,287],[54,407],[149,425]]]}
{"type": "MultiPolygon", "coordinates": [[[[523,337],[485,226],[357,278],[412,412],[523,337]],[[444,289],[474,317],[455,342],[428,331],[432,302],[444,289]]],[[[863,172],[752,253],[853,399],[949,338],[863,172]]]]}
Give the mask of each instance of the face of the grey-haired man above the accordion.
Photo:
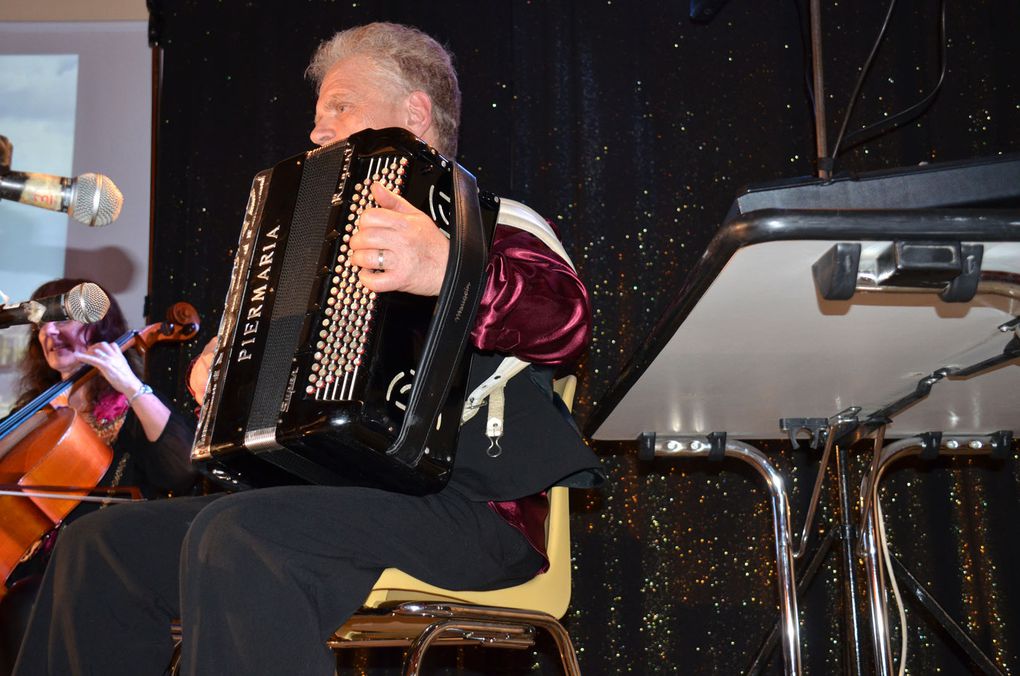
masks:
{"type": "Polygon", "coordinates": [[[367,128],[406,128],[406,99],[378,74],[370,59],[359,55],[341,59],[322,79],[312,143],[324,146],[367,128]]]}

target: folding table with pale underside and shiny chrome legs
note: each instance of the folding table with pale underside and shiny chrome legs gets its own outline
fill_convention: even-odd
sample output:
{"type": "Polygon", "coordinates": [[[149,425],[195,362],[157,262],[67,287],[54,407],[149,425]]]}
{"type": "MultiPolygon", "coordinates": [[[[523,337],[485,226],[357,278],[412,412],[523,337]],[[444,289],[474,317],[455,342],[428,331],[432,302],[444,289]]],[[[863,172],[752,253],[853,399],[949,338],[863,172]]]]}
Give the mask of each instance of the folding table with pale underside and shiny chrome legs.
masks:
{"type": "MultiPolygon", "coordinates": [[[[839,449],[875,435],[874,486],[886,433],[994,431],[989,446],[1008,444],[1003,430],[1020,429],[1020,369],[1004,366],[1020,358],[1018,314],[1020,211],[737,212],[585,431],[595,439],[640,437],[644,457],[738,457],[766,476],[786,673],[800,672],[786,495],[764,454],[734,439],[793,440],[808,430],[813,443],[824,441],[798,556],[835,449],[840,532],[850,533],[842,548],[848,657],[859,673],[858,515],[839,449]]],[[[870,505],[861,511],[865,523],[870,505]]],[[[880,579],[868,582],[872,600],[884,594],[880,579]]],[[[889,663],[884,632],[873,617],[879,673],[889,663]]]]}

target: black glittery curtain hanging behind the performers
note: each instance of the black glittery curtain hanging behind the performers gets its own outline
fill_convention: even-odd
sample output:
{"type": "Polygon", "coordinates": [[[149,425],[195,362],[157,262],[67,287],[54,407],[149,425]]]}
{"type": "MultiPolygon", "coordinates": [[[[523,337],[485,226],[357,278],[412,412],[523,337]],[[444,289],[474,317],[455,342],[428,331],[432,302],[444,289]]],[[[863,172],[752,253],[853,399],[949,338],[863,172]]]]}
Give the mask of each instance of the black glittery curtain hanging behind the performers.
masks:
{"type": "MultiPolygon", "coordinates": [[[[822,4],[831,143],[887,5],[822,4]]],[[[337,30],[393,20],[452,48],[464,92],[459,160],[483,189],[550,218],[593,293],[575,407],[583,423],[738,190],[814,173],[806,5],[732,0],[696,23],[686,2],[151,0],[162,50],[151,315],[187,300],[204,319],[194,344],[154,352],[153,382],[194,406],[184,372],[218,325],[251,178],[311,145],[315,95],[302,79],[311,52],[337,30]]],[[[850,129],[931,90],[938,11],[934,0],[901,0],[850,129]]],[[[951,3],[948,18],[949,69],[933,105],[847,149],[837,172],[1020,150],[1020,4],[951,3]]],[[[766,448],[789,477],[796,528],[818,454],[766,448]]],[[[630,444],[597,451],[613,481],[574,496],[566,619],[584,672],[746,670],[777,603],[757,477],[729,463],[641,465],[630,444]]],[[[865,450],[852,459],[859,472],[865,450]]],[[[939,461],[891,472],[884,498],[895,551],[1011,671],[1020,669],[1017,496],[1013,460],[939,461]]],[[[802,602],[807,673],[845,673],[838,576],[830,557],[802,602]]],[[[910,673],[973,673],[926,616],[910,607],[908,618],[910,673]]],[[[556,673],[548,652],[442,660],[451,670],[556,673]]],[[[377,661],[348,664],[360,673],[377,661]]],[[[773,659],[769,673],[778,667],[773,659]]]]}

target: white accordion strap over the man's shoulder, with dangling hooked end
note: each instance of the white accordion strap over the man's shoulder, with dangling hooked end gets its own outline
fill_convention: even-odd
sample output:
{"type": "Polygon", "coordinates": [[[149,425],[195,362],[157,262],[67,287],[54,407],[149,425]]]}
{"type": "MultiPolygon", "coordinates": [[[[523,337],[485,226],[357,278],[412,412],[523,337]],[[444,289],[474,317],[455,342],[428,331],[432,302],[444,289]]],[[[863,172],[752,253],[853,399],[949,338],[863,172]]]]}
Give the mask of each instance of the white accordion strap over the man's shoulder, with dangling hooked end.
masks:
{"type": "MultiPolygon", "coordinates": [[[[508,225],[530,232],[539,238],[543,244],[549,247],[557,256],[566,261],[572,269],[573,261],[567,255],[556,232],[533,209],[514,200],[500,199],[500,212],[496,217],[496,222],[500,225],[508,225]]],[[[523,371],[528,362],[516,357],[507,357],[500,362],[496,371],[490,375],[481,384],[464,400],[464,411],[460,422],[464,424],[474,417],[481,405],[489,401],[489,419],[486,421],[486,436],[491,443],[489,455],[496,457],[500,454],[499,439],[503,436],[503,388],[507,381],[513,376],[523,371]]]]}

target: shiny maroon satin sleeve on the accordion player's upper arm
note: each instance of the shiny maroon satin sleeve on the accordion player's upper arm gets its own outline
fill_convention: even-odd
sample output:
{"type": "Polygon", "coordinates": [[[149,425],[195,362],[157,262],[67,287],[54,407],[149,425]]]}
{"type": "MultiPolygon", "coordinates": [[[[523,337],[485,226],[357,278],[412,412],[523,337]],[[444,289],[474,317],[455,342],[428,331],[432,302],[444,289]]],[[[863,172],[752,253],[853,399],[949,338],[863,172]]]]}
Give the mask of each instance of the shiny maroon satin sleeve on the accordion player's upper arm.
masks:
{"type": "Polygon", "coordinates": [[[537,364],[573,361],[592,333],[588,290],[537,237],[497,225],[489,278],[471,331],[479,350],[537,364]]]}

